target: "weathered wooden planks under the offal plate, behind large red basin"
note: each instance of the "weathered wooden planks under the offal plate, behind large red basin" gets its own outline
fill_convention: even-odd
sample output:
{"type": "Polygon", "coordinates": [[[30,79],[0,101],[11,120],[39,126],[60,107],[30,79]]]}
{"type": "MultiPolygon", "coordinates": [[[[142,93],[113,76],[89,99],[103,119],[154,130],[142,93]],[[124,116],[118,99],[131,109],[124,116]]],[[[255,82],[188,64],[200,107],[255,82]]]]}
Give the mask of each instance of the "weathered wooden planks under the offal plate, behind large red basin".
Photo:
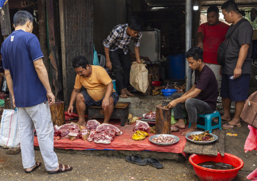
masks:
{"type": "Polygon", "coordinates": [[[218,150],[222,156],[225,153],[225,130],[215,129],[212,134],[218,136],[218,140],[209,144],[197,144],[187,140],[184,148],[185,153],[192,153],[198,155],[217,156],[218,150]]]}

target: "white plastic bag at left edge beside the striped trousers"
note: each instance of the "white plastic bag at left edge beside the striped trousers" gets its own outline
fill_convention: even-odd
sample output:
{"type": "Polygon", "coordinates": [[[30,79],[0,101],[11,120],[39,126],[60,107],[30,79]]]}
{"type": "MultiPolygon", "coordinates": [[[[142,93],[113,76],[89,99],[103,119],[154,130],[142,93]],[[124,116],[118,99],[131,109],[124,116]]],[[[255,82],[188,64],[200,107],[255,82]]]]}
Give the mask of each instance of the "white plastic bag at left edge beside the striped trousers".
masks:
{"type": "Polygon", "coordinates": [[[0,128],[0,145],[8,148],[20,147],[18,112],[16,109],[4,109],[0,128]]]}

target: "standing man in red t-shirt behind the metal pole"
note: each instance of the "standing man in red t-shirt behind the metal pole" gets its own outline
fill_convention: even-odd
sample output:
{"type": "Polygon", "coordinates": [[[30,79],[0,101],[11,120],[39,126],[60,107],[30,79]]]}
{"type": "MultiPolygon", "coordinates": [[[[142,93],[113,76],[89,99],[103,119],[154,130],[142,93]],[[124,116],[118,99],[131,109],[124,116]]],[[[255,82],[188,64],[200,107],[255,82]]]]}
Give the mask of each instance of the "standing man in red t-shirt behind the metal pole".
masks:
{"type": "Polygon", "coordinates": [[[198,44],[203,49],[204,64],[215,74],[218,82],[218,92],[221,88],[221,76],[219,75],[220,65],[217,62],[219,45],[225,40],[229,25],[219,20],[219,8],[210,6],[207,10],[207,23],[199,26],[198,44]]]}

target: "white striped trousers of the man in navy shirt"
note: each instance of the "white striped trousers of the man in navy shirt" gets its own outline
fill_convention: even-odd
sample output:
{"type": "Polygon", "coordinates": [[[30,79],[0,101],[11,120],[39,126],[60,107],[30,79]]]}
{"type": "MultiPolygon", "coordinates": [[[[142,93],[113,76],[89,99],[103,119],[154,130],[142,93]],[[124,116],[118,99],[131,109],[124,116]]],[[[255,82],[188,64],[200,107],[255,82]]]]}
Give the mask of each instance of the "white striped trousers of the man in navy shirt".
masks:
{"type": "Polygon", "coordinates": [[[47,171],[57,168],[58,158],[54,152],[54,127],[48,102],[31,107],[17,107],[17,111],[23,167],[26,169],[35,165],[35,128],[47,171]]]}

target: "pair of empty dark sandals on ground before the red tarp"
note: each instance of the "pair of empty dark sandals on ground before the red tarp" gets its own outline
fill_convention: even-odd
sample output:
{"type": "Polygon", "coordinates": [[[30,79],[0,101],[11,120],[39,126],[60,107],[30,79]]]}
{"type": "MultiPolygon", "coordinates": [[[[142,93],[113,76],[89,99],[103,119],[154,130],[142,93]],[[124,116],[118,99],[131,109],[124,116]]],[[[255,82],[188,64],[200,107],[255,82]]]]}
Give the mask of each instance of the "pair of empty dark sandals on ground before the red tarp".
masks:
{"type": "Polygon", "coordinates": [[[142,160],[138,155],[126,156],[126,161],[137,165],[144,166],[146,164],[151,165],[155,168],[163,168],[163,165],[155,158],[145,158],[142,160]]]}

